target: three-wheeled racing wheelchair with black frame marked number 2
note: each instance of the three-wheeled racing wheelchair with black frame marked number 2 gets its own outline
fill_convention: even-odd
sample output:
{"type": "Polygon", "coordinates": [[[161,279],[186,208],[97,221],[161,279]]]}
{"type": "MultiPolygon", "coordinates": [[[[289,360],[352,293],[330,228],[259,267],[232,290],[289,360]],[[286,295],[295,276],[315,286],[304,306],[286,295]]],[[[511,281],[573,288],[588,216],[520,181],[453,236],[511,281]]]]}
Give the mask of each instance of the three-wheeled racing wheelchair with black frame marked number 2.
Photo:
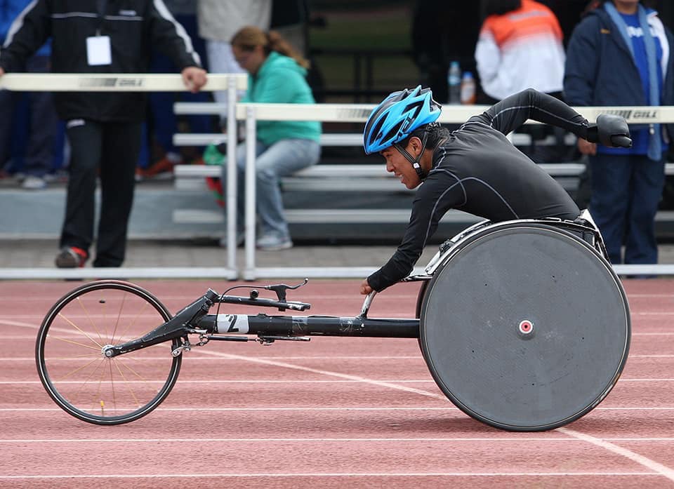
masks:
{"type": "Polygon", "coordinates": [[[628,301],[587,213],[575,221],[480,222],[404,280],[423,282],[414,319],[370,318],[376,293],[354,317],[227,312],[227,304],[304,312],[310,304],[286,299],[303,283],[233,287],[250,289],[240,296],[209,289],[174,316],[133,283],[86,283],[42,322],[39,377],[70,415],[121,424],[157,408],[185,351],[210,342],[418,338],[437,386],[464,413],[498,429],[543,431],[589,413],[621,375],[628,301]]]}

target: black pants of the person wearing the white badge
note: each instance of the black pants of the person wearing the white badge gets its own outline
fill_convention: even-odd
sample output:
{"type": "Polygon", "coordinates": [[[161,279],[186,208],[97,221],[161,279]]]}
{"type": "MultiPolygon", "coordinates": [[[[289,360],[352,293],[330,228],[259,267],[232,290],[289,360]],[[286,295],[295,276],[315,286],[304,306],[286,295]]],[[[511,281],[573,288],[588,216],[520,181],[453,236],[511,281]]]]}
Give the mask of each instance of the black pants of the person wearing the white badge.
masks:
{"type": "Polygon", "coordinates": [[[60,246],[89,249],[93,242],[96,179],[100,217],[94,267],[119,267],[126,253],[141,123],[68,121],[70,177],[60,246]]]}

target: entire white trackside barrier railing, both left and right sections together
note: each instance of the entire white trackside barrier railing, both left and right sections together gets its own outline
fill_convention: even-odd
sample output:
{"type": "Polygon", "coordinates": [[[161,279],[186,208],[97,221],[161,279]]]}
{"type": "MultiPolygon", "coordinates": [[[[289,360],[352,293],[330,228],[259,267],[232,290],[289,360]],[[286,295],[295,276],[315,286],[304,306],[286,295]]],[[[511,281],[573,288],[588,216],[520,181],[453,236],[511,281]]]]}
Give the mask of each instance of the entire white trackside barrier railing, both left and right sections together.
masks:
{"type": "MultiPolygon", "coordinates": [[[[246,88],[246,75],[210,74],[206,91],[228,93],[227,107],[227,268],[209,267],[161,268],[161,269],[0,269],[0,279],[35,278],[105,278],[108,276],[167,277],[167,276],[218,276],[235,279],[241,269],[236,262],[236,121],[245,121],[246,126],[246,245],[244,279],[291,276],[362,276],[358,269],[325,269],[324,267],[280,267],[258,268],[255,264],[255,140],[256,121],[323,121],[357,122],[366,121],[373,105],[340,104],[237,104],[236,92],[246,88]]],[[[0,88],[16,91],[183,91],[183,81],[178,74],[6,74],[0,78],[0,88]]],[[[486,109],[486,106],[447,106],[440,117],[442,123],[462,123],[470,116],[486,109]]],[[[204,109],[204,107],[201,107],[204,109]]],[[[217,107],[213,107],[217,109],[217,107]]],[[[630,123],[674,122],[674,107],[579,107],[578,111],[587,119],[594,120],[604,113],[620,114],[630,123]]],[[[199,110],[194,107],[194,110],[199,110]]],[[[197,113],[197,112],[193,112],[197,113]]],[[[201,114],[209,112],[198,112],[201,114]]],[[[217,112],[220,113],[219,111],[217,112]]],[[[621,274],[674,274],[670,265],[616,265],[621,274]]]]}

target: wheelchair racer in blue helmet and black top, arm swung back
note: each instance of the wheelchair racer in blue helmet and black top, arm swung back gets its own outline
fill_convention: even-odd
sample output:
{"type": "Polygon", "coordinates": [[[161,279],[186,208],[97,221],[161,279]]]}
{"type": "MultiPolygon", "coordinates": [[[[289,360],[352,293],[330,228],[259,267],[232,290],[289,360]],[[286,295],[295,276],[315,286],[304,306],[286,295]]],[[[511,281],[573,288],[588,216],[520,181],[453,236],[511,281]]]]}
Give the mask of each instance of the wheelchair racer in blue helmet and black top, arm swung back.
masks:
{"type": "Polygon", "coordinates": [[[611,147],[632,143],[622,117],[602,114],[590,124],[564,102],[533,89],[501,100],[452,132],[436,122],[441,111],[430,88],[417,86],[388,95],[365,124],[366,154],[378,152],[402,185],[419,189],[402,243],[383,267],[362,281],[361,294],[381,292],[408,276],[451,208],[494,222],[579,217],[578,206],[562,186],[505,138],[527,119],[564,128],[589,142],[611,147]]]}

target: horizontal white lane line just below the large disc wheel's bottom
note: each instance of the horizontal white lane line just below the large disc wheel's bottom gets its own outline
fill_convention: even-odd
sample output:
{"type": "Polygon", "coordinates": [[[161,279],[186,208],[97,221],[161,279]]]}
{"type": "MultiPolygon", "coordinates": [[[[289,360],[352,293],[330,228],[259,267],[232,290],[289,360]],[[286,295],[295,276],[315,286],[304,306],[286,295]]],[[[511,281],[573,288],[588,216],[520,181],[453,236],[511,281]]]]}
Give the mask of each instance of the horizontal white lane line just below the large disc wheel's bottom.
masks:
{"type": "MultiPolygon", "coordinates": [[[[602,438],[603,441],[662,441],[671,442],[674,438],[602,438]]],[[[559,441],[562,443],[585,443],[586,440],[581,438],[564,438],[543,437],[543,436],[516,436],[512,438],[482,438],[478,437],[458,437],[458,438],[3,438],[0,443],[307,443],[307,442],[329,442],[329,443],[352,443],[366,441],[368,443],[388,443],[395,441],[396,443],[416,443],[416,442],[506,442],[506,443],[520,443],[522,441],[548,442],[559,441]]]]}

